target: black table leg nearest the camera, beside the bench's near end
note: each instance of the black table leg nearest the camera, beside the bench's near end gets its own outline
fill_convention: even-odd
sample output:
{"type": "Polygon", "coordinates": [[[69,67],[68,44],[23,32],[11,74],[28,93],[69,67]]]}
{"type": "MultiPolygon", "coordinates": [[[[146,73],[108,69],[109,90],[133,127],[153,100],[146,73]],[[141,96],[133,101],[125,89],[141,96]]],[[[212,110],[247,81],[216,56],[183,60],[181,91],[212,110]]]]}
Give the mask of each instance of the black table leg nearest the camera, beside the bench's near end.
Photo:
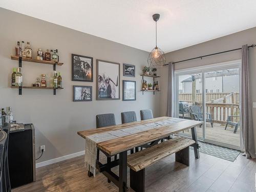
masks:
{"type": "Polygon", "coordinates": [[[119,192],[127,191],[127,152],[119,153],[119,192]]]}

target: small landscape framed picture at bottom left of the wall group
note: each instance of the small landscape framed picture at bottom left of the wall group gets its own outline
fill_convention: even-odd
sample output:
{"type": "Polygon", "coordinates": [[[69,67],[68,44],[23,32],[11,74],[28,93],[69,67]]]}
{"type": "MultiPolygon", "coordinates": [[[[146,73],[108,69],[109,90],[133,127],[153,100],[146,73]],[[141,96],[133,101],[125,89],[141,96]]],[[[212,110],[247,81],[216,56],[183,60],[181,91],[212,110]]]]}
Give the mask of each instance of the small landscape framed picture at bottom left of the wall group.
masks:
{"type": "Polygon", "coordinates": [[[92,101],[92,86],[73,86],[73,101],[92,101]]]}

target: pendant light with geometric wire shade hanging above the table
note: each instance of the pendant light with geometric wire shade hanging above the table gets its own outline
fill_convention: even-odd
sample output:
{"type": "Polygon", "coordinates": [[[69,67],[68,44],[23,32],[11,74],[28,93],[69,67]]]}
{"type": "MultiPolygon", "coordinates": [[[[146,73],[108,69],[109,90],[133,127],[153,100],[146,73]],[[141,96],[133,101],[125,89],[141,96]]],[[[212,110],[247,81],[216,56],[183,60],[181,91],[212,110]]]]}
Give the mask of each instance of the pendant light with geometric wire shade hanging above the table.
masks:
{"type": "Polygon", "coordinates": [[[150,55],[148,55],[147,63],[151,68],[161,68],[165,64],[166,58],[164,52],[157,47],[157,21],[160,15],[154,14],[152,17],[156,22],[156,47],[150,52],[150,55]]]}

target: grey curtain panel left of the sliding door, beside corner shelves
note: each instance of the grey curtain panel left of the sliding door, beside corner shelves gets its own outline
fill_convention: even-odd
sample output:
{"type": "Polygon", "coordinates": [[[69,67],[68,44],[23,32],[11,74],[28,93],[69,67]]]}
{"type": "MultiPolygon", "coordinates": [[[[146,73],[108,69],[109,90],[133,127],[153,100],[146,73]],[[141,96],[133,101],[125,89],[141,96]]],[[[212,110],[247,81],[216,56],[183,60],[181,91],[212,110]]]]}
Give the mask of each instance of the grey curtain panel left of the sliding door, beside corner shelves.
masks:
{"type": "Polygon", "coordinates": [[[166,116],[174,117],[174,63],[168,63],[168,93],[166,116]]]}

